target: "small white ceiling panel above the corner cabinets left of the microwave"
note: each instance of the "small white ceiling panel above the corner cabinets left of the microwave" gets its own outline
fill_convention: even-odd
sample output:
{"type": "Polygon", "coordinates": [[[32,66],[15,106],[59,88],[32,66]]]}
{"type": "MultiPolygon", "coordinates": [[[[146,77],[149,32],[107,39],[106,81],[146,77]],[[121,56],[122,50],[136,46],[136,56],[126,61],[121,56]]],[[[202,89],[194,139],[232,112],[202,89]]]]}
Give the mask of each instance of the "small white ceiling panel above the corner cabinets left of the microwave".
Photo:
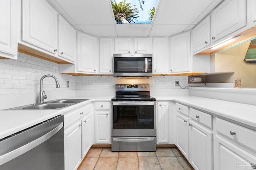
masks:
{"type": "Polygon", "coordinates": [[[96,37],[117,37],[115,25],[78,25],[84,32],[96,37]]]}

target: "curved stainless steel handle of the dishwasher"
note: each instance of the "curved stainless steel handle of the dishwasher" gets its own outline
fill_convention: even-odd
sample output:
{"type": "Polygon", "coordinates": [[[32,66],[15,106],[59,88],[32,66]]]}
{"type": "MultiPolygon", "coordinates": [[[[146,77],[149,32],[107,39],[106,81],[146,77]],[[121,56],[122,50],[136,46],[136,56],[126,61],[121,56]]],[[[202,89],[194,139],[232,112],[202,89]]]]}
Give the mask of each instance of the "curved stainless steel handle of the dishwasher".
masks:
{"type": "Polygon", "coordinates": [[[15,150],[12,150],[11,152],[8,152],[6,154],[3,154],[0,156],[0,165],[5,164],[6,162],[24,154],[25,152],[28,152],[29,150],[37,147],[44,141],[51,138],[53,135],[55,135],[60,129],[63,127],[63,122],[61,122],[57,127],[52,129],[50,132],[46,133],[45,135],[42,135],[41,137],[37,138],[36,140],[23,145],[22,147],[19,147],[15,150]]]}

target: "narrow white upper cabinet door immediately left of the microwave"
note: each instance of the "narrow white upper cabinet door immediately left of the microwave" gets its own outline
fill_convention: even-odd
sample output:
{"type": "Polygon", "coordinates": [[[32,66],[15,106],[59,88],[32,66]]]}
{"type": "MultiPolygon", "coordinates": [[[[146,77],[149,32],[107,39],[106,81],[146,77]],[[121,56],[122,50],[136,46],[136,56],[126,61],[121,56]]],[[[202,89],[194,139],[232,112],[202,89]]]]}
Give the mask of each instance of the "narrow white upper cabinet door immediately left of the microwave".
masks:
{"type": "Polygon", "coordinates": [[[113,39],[100,38],[100,73],[112,74],[113,39]]]}

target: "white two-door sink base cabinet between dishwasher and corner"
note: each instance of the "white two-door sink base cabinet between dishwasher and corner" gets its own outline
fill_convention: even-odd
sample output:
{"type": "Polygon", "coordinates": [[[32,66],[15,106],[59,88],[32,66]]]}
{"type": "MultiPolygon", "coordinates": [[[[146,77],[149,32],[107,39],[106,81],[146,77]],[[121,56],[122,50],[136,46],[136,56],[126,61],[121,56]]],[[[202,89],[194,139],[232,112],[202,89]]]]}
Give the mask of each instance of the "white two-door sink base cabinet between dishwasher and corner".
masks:
{"type": "Polygon", "coordinates": [[[91,104],[64,114],[65,170],[76,170],[92,146],[91,104]]]}

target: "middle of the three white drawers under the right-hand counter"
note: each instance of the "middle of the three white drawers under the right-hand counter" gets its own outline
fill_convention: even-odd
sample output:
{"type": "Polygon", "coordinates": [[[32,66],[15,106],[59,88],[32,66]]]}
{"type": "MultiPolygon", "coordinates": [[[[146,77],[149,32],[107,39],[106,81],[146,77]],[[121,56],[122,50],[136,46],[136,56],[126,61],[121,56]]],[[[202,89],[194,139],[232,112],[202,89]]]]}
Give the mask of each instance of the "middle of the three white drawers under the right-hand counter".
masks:
{"type": "Polygon", "coordinates": [[[212,115],[190,108],[190,118],[212,129],[212,115]]]}

